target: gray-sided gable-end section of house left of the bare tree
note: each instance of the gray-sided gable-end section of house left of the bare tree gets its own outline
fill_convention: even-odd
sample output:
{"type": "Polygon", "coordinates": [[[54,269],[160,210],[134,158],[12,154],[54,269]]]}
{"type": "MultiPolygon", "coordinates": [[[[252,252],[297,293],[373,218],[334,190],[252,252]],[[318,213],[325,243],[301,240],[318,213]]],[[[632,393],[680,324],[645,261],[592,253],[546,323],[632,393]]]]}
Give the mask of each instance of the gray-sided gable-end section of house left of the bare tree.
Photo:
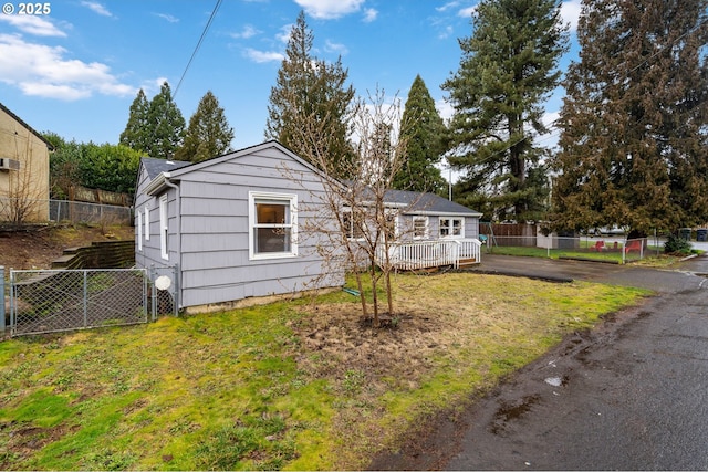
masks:
{"type": "Polygon", "coordinates": [[[144,158],[135,197],[136,263],[176,265],[179,308],[341,286],[316,218],[317,170],[277,141],[191,164],[144,158]]]}

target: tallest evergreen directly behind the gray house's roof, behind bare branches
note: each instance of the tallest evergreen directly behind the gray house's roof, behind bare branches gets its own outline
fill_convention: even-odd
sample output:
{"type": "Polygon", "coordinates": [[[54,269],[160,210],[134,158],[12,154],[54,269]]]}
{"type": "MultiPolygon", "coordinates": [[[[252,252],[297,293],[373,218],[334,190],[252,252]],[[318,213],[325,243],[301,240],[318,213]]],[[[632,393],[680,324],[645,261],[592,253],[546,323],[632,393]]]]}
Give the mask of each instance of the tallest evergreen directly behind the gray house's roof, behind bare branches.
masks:
{"type": "Polygon", "coordinates": [[[341,57],[329,64],[311,55],[313,38],[301,11],[271,88],[266,138],[278,139],[302,156],[326,155],[332,171],[345,177],[342,174],[353,158],[348,132],[354,88],[345,85],[348,71],[341,57]],[[303,129],[315,127],[320,139],[303,138],[303,129]]]}

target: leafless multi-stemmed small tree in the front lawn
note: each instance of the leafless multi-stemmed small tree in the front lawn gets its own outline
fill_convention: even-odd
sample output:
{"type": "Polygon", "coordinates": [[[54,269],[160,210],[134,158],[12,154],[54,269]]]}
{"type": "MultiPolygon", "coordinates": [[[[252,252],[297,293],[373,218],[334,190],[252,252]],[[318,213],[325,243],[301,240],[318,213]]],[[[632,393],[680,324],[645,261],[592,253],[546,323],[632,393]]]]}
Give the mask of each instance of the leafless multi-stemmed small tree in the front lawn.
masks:
{"type": "MultiPolygon", "coordinates": [[[[386,204],[386,193],[402,169],[406,156],[406,143],[394,133],[402,123],[400,101],[387,101],[383,91],[358,99],[353,107],[353,135],[351,137],[354,158],[347,161],[344,175],[352,176],[340,181],[332,176],[342,175],[342,160],[333,159],[319,143],[325,143],[331,130],[326,120],[303,119],[293,139],[300,140],[301,156],[321,172],[319,179],[322,193],[315,196],[316,209],[309,209],[299,229],[300,238],[317,235],[315,244],[319,256],[330,271],[346,271],[354,274],[362,314],[381,326],[381,301],[378,289],[383,283],[386,307],[394,316],[391,274],[395,270],[392,259],[396,242],[397,214],[386,204]],[[340,166],[334,168],[334,166],[340,166]],[[368,273],[373,301],[365,296],[363,274],[368,273]]],[[[405,126],[405,125],[404,125],[405,126]]],[[[288,172],[293,181],[303,176],[288,172]]],[[[304,209],[299,209],[299,211],[304,209]]],[[[400,235],[400,231],[398,232],[400,235]]]]}

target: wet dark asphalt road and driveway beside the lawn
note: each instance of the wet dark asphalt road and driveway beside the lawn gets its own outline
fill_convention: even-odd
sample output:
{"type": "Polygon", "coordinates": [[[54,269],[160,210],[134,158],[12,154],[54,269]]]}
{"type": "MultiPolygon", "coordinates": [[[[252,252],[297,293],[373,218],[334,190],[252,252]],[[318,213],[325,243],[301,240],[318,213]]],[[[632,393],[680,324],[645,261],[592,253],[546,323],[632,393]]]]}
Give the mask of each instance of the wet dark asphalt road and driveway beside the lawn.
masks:
{"type": "Polygon", "coordinates": [[[708,470],[708,258],[657,271],[486,256],[479,270],[659,295],[568,338],[374,468],[708,470]]]}

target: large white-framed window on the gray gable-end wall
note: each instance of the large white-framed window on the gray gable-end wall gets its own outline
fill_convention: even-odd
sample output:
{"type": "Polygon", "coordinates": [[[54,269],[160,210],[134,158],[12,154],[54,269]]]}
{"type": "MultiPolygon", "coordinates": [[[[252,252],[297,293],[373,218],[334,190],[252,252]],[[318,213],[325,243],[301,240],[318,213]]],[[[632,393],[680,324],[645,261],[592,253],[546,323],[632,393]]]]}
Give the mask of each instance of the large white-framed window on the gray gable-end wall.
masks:
{"type": "Polygon", "coordinates": [[[249,192],[251,259],[298,255],[298,196],[249,192]]]}

